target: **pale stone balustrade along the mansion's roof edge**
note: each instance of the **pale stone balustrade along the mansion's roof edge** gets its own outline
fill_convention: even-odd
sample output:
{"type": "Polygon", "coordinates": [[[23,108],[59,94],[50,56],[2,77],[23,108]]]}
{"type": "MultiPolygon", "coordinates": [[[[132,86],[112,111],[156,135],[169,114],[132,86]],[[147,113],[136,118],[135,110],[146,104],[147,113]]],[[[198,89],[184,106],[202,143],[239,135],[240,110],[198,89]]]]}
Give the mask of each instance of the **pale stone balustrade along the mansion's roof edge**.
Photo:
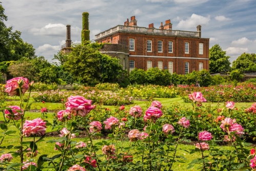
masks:
{"type": "Polygon", "coordinates": [[[151,34],[159,34],[159,35],[186,36],[186,37],[199,37],[199,32],[194,32],[194,31],[163,30],[163,29],[156,29],[156,28],[118,25],[116,27],[113,27],[109,30],[106,30],[104,32],[101,32],[95,35],[95,40],[118,31],[127,31],[132,33],[151,33],[151,34]]]}

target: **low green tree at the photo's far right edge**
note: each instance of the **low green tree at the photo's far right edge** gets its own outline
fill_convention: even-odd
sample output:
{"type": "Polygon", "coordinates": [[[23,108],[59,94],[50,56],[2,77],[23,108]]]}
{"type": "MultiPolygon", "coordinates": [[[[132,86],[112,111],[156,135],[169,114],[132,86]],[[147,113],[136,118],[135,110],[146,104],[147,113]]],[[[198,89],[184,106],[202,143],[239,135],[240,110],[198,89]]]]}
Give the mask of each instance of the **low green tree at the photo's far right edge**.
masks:
{"type": "Polygon", "coordinates": [[[232,62],[232,71],[256,71],[256,54],[243,53],[232,62]]]}

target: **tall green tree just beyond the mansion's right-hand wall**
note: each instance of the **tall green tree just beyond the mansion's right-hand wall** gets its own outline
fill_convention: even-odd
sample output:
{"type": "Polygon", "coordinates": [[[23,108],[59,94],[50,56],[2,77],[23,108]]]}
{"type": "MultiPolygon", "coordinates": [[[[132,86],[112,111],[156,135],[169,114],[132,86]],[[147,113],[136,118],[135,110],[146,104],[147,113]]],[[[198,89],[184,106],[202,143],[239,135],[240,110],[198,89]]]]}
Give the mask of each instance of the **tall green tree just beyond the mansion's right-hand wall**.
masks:
{"type": "Polygon", "coordinates": [[[209,50],[209,71],[227,72],[230,70],[230,57],[226,56],[226,51],[223,51],[219,44],[212,46],[209,50]]]}

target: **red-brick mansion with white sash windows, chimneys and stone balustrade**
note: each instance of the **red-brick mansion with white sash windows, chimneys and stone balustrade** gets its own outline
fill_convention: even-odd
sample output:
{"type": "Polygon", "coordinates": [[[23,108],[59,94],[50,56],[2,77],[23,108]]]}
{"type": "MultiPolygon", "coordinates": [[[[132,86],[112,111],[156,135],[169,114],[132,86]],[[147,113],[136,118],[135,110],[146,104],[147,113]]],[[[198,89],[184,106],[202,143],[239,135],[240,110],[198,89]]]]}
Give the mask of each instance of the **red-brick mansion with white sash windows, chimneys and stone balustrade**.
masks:
{"type": "Polygon", "coordinates": [[[170,20],[166,20],[159,29],[154,28],[154,24],[145,28],[138,27],[135,16],[132,16],[130,22],[127,19],[124,25],[95,35],[95,41],[127,47],[123,52],[102,52],[117,58],[115,54],[129,56],[126,61],[120,59],[120,64],[129,66],[128,69],[124,67],[129,71],[158,67],[170,73],[187,74],[194,70],[209,70],[209,38],[201,38],[200,25],[196,32],[173,30],[170,20]]]}

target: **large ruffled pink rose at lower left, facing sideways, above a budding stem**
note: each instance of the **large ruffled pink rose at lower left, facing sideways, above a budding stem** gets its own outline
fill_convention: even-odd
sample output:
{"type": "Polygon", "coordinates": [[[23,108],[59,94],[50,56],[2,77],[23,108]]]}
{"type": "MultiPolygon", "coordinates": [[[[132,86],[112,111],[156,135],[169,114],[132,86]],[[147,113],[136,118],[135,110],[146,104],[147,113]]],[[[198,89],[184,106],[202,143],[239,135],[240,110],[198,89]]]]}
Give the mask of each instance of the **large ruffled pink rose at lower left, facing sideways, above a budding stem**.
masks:
{"type": "Polygon", "coordinates": [[[33,135],[44,135],[46,133],[46,122],[41,118],[26,120],[23,126],[23,135],[26,137],[33,135]]]}

